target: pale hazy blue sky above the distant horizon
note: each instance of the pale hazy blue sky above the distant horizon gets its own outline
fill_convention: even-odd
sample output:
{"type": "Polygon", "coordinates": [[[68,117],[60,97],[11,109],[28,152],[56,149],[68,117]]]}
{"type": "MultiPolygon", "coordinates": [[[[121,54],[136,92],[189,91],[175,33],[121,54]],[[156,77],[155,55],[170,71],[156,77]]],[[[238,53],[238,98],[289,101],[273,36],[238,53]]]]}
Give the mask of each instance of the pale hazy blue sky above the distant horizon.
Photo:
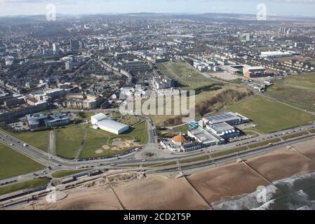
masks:
{"type": "Polygon", "coordinates": [[[53,3],[61,14],[246,13],[264,3],[267,15],[315,17],[315,0],[0,0],[0,16],[46,15],[53,3]]]}

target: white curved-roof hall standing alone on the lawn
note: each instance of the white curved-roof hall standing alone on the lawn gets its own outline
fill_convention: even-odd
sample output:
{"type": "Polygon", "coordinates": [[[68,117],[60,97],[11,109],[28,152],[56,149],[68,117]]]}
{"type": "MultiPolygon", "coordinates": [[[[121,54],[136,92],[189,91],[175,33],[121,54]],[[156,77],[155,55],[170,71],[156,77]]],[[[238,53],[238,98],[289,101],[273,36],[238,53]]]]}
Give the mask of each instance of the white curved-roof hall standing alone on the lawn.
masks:
{"type": "Polygon", "coordinates": [[[128,125],[118,123],[115,120],[109,120],[104,113],[98,113],[91,117],[91,124],[95,130],[103,130],[112,134],[123,134],[129,130],[128,125]]]}

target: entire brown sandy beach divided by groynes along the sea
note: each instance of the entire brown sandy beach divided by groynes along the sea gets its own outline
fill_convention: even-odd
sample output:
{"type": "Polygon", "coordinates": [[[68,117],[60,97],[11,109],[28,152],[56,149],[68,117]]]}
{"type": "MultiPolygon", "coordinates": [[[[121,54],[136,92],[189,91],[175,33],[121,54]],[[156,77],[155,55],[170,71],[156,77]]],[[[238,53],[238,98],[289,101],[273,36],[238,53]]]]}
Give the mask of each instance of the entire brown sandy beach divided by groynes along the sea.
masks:
{"type": "MultiPolygon", "coordinates": [[[[314,158],[314,140],[295,144],[295,150],[314,158]]],[[[246,161],[250,169],[242,162],[224,165],[213,169],[196,172],[187,179],[192,183],[207,202],[218,202],[228,197],[253,193],[258,186],[268,186],[269,181],[286,179],[296,174],[315,171],[315,162],[305,158],[292,149],[261,155],[246,161]],[[258,172],[259,174],[257,174],[258,172]],[[260,176],[260,174],[262,176],[260,176]]],[[[208,209],[201,195],[196,193],[184,178],[167,179],[151,176],[145,179],[119,181],[113,184],[114,191],[123,207],[135,210],[193,210],[208,209]]],[[[36,204],[22,209],[122,209],[113,191],[104,183],[95,186],[67,190],[69,196],[55,204],[36,204]]]]}

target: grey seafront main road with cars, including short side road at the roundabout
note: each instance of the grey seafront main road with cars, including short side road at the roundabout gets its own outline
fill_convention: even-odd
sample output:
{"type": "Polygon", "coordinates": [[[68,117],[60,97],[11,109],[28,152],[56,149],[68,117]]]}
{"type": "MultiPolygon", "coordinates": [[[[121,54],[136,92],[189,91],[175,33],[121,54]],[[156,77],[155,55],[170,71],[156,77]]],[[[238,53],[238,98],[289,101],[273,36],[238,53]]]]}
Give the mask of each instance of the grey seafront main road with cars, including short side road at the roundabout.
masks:
{"type": "MultiPolygon", "coordinates": [[[[150,125],[149,120],[147,120],[147,123],[149,123],[150,125]]],[[[266,139],[281,137],[286,134],[304,132],[313,128],[314,128],[314,125],[305,125],[303,127],[297,127],[290,130],[277,132],[274,134],[266,134],[260,137],[255,137],[253,139],[246,139],[243,141],[238,141],[238,142],[234,142],[227,145],[212,146],[208,149],[205,148],[203,150],[210,151],[210,152],[222,151],[224,149],[235,148],[241,145],[246,146],[247,144],[264,141],[266,139]]],[[[150,132],[152,132],[152,130],[154,130],[154,127],[150,125],[149,130],[150,132]]],[[[149,137],[149,145],[152,146],[156,144],[154,139],[155,139],[154,136],[149,137]]],[[[7,146],[13,148],[15,151],[22,153],[23,155],[26,155],[27,157],[32,158],[33,160],[36,160],[43,165],[46,165],[47,167],[53,167],[53,169],[60,169],[60,167],[62,167],[62,169],[77,169],[79,167],[98,166],[101,163],[105,163],[105,165],[112,165],[113,163],[115,163],[116,165],[123,165],[123,164],[143,162],[142,159],[139,159],[139,160],[134,159],[135,153],[121,156],[120,158],[111,158],[111,159],[105,159],[105,160],[100,160],[100,159],[99,160],[85,160],[85,161],[80,161],[80,162],[77,160],[66,160],[64,158],[59,158],[56,155],[51,155],[49,153],[41,151],[40,149],[35,148],[34,146],[29,146],[27,143],[21,141],[20,139],[16,139],[15,137],[1,131],[0,131],[0,142],[2,144],[6,144],[7,146]]],[[[148,150],[150,149],[154,151],[153,148],[148,148],[148,150]]],[[[156,150],[159,150],[159,149],[156,149],[156,150]]],[[[204,154],[203,150],[194,151],[191,153],[175,153],[175,154],[163,151],[164,153],[162,153],[162,156],[160,158],[153,158],[151,160],[147,160],[147,162],[163,162],[163,161],[178,160],[178,159],[183,159],[183,158],[193,158],[198,155],[204,154]]],[[[162,150],[159,150],[159,151],[162,151],[162,150]]],[[[137,153],[142,153],[142,152],[140,151],[137,153]]]]}

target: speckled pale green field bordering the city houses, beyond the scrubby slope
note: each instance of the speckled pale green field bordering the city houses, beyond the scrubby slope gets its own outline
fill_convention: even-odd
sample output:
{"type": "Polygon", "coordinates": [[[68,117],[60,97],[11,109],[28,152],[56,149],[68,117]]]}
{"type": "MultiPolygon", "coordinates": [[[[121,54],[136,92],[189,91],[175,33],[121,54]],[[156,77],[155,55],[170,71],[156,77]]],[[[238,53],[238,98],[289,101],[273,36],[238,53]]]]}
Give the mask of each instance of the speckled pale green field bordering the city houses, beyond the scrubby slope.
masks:
{"type": "Polygon", "coordinates": [[[157,66],[164,75],[177,80],[183,90],[195,90],[214,83],[182,60],[158,63],[157,66]]]}

